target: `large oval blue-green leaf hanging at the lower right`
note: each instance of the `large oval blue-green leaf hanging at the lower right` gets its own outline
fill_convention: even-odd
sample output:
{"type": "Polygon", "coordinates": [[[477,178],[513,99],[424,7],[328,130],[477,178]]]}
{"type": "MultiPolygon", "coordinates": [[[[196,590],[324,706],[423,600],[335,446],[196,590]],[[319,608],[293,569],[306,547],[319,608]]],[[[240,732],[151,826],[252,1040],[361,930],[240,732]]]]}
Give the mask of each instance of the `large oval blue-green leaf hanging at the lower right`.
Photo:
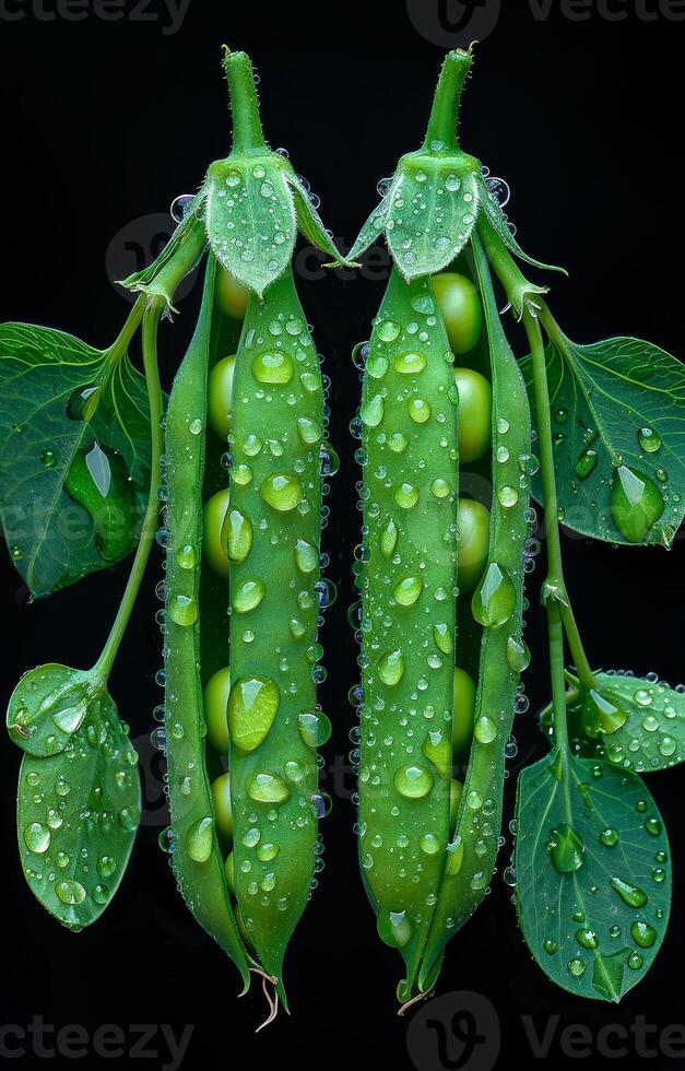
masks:
{"type": "Polygon", "coordinates": [[[671,906],[663,821],[629,770],[558,752],[522,770],[516,905],[533,958],[578,997],[619,1001],[646,975],[671,906]]]}

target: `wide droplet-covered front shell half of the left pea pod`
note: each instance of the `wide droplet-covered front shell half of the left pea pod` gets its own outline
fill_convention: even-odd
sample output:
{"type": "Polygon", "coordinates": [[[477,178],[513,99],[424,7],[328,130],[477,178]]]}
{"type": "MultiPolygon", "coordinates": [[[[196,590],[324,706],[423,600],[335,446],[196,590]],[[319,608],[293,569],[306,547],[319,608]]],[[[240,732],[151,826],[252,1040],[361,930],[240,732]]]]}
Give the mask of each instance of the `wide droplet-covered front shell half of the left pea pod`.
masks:
{"type": "Polygon", "coordinates": [[[248,305],[234,378],[226,518],[236,893],[282,998],[283,955],[310,895],[321,807],[322,434],[319,360],[288,269],[262,303],[252,296],[248,305]]]}

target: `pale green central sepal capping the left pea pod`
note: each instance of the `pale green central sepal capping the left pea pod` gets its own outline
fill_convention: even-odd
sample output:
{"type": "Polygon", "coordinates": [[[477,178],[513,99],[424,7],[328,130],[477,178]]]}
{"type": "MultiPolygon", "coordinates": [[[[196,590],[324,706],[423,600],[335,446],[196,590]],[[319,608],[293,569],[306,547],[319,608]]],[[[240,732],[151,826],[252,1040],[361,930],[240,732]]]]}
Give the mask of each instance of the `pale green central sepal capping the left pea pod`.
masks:
{"type": "Polygon", "coordinates": [[[229,275],[261,297],[291,262],[297,233],[290,165],[264,149],[229,156],[209,169],[206,229],[229,275]]]}

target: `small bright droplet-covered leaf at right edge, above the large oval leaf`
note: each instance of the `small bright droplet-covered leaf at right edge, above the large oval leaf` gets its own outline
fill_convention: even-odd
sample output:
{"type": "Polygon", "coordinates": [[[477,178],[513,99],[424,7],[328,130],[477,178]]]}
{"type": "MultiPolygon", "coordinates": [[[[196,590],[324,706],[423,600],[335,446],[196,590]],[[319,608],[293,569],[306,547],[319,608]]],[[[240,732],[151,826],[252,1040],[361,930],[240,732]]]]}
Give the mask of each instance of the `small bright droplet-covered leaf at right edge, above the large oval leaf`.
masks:
{"type": "Polygon", "coordinates": [[[622,717],[614,719],[617,728],[611,719],[598,725],[587,693],[571,704],[570,728],[587,738],[581,745],[589,754],[638,774],[670,769],[685,761],[685,693],[653,678],[602,672],[594,679],[600,697],[622,717]]]}

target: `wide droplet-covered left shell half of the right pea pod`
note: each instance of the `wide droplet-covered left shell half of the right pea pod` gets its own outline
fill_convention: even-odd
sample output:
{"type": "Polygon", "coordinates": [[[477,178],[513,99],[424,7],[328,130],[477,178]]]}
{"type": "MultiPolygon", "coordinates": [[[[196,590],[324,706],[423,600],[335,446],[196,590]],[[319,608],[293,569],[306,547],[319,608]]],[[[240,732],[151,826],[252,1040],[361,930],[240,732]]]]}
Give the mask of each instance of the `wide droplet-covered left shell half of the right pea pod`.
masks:
{"type": "Polygon", "coordinates": [[[453,357],[429,279],[393,271],[366,363],[361,861],[411,991],[449,838],[457,576],[453,357]]]}

